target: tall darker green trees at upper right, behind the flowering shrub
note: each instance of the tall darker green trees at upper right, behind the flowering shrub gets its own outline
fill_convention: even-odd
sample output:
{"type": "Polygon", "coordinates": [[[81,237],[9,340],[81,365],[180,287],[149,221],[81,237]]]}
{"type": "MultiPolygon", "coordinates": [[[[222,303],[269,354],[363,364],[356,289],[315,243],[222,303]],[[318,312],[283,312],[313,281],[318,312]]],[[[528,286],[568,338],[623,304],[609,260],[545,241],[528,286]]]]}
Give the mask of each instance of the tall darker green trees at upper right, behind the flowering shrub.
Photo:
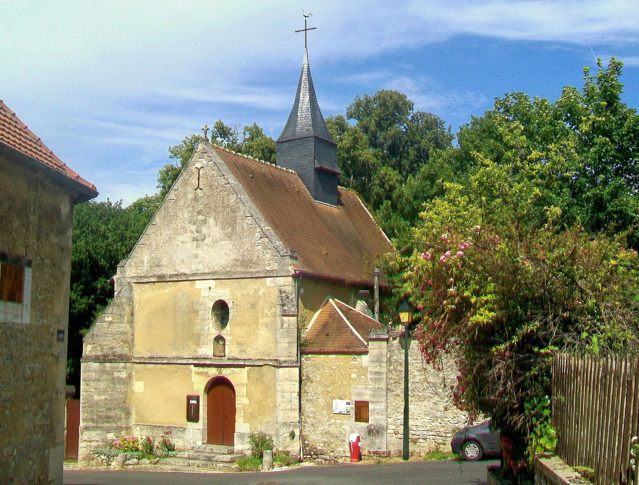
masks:
{"type": "MultiPolygon", "coordinates": [[[[610,59],[607,68],[590,75],[584,68],[583,89],[566,86],[557,102],[531,99],[525,93],[509,93],[495,102],[493,110],[473,117],[460,128],[459,148],[450,152],[456,166],[472,167],[481,153],[502,162],[509,138],[498,129],[502,119],[517,121],[523,150],[528,154],[552,144],[574,144],[576,165],[570,176],[555,180],[553,202],[562,209],[562,222],[580,220],[594,233],[619,232],[637,222],[639,116],[621,102],[619,81],[622,63],[610,59]]],[[[631,243],[636,244],[635,236],[631,243]]]]}

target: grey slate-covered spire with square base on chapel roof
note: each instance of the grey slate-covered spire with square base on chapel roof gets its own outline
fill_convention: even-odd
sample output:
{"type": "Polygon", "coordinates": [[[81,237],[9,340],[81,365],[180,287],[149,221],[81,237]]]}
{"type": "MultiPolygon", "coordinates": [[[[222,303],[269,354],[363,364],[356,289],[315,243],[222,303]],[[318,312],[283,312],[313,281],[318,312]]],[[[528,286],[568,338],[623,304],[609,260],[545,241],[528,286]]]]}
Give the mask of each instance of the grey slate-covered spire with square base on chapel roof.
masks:
{"type": "Polygon", "coordinates": [[[293,109],[275,143],[277,164],[295,170],[316,201],[339,203],[337,145],[319,111],[306,49],[293,109]]]}

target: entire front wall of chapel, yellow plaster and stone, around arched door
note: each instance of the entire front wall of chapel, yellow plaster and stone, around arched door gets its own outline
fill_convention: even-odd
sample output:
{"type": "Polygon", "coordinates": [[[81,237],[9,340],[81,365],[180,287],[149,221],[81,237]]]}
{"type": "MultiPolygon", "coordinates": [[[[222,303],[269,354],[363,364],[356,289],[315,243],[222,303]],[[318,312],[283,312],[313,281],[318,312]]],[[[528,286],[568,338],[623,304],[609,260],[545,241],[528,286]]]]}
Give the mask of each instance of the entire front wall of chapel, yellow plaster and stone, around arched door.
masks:
{"type": "Polygon", "coordinates": [[[299,449],[289,257],[210,151],[199,145],[118,267],[116,296],[84,339],[81,466],[91,463],[92,449],[123,435],[158,437],[171,429],[178,447],[201,444],[204,386],[220,373],[236,387],[236,449],[245,449],[256,429],[275,435],[284,449],[299,449]],[[203,190],[195,190],[197,167],[203,190]],[[230,313],[222,330],[211,312],[220,298],[230,313]],[[226,357],[213,357],[219,334],[226,357]],[[185,420],[187,394],[201,396],[199,423],[185,420]]]}

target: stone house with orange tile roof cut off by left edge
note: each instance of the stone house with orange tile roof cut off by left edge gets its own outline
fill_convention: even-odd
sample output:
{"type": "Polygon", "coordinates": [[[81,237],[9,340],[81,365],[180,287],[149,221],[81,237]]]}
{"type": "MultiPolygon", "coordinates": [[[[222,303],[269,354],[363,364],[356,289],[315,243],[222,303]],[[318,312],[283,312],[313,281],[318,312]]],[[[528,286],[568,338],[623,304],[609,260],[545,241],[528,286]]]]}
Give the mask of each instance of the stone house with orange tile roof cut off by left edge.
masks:
{"type": "Polygon", "coordinates": [[[0,101],[0,482],[61,484],[73,204],[98,195],[0,101]]]}

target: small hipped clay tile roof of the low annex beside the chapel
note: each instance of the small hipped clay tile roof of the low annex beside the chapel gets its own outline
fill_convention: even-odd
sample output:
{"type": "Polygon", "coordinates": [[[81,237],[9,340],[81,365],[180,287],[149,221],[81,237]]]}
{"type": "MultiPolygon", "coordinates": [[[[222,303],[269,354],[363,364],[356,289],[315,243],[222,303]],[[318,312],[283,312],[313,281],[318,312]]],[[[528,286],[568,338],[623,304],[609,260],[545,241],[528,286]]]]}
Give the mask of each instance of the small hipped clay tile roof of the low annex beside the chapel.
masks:
{"type": "Polygon", "coordinates": [[[330,298],[313,316],[302,340],[303,354],[368,353],[368,333],[383,328],[375,319],[330,298]]]}

